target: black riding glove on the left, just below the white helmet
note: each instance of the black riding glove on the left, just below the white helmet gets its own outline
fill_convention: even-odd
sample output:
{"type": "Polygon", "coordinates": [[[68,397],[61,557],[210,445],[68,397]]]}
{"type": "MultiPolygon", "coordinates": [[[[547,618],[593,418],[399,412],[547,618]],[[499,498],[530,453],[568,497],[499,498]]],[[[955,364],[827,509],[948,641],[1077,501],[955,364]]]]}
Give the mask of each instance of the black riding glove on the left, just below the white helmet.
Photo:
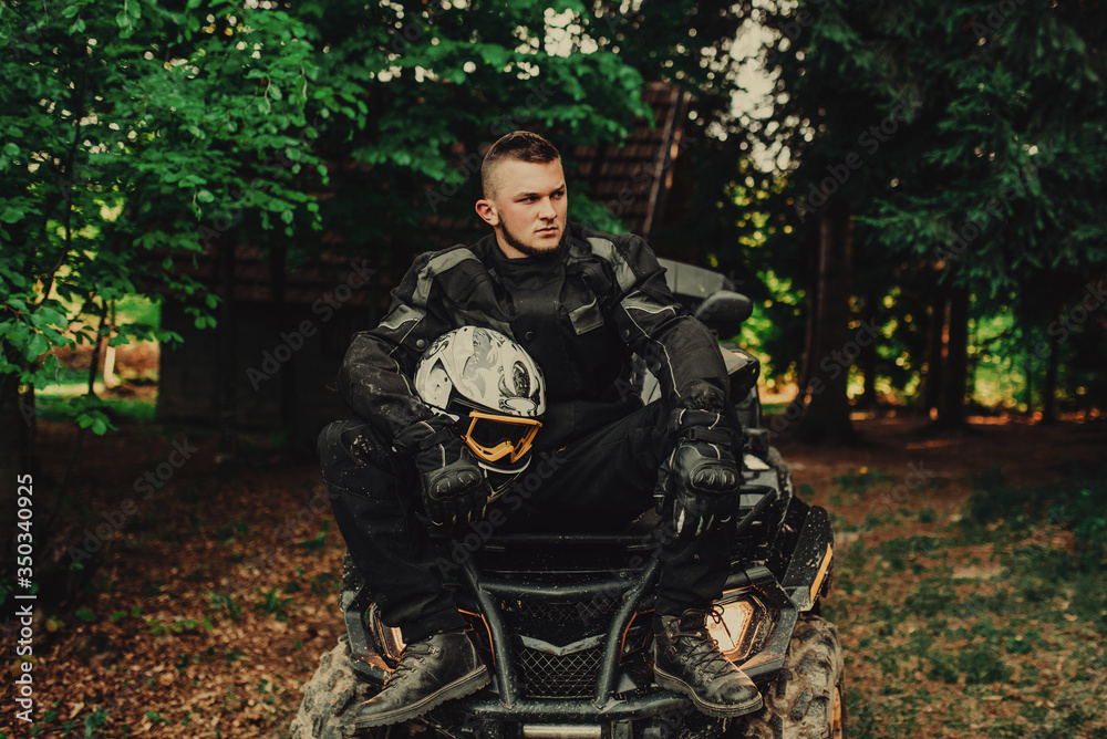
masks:
{"type": "Polygon", "coordinates": [[[396,451],[415,460],[423,507],[436,527],[479,521],[488,504],[488,483],[454,421],[435,416],[408,426],[393,440],[396,451]]]}

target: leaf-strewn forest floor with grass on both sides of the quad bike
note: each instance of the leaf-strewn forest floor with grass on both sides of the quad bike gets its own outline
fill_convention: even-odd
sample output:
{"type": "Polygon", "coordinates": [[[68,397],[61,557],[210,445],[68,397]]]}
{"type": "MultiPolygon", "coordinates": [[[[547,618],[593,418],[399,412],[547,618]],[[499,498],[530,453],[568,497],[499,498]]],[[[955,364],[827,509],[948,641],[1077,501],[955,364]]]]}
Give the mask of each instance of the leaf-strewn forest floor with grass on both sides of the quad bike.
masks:
{"type": "MultiPolygon", "coordinates": [[[[857,420],[867,446],[780,445],[836,527],[825,615],[849,736],[1107,737],[1107,424],[974,420],[933,437],[919,418],[857,420]]],[[[38,521],[72,440],[42,423],[38,521]]],[[[64,533],[35,552],[70,572],[39,583],[55,605],[37,614],[34,724],[15,726],[12,656],[0,737],[287,736],[342,631],[343,545],[318,466],[271,443],[245,444],[220,481],[210,431],[84,439],[64,533]]]]}

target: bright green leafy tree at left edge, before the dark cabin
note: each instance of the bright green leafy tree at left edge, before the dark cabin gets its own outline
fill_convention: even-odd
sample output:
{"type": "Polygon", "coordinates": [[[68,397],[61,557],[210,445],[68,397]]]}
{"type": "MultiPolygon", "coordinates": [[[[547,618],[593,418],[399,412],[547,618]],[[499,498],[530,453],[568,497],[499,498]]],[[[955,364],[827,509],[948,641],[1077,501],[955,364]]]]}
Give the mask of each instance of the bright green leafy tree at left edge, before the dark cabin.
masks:
{"type": "MultiPolygon", "coordinates": [[[[292,232],[297,215],[318,227],[313,198],[287,183],[320,165],[303,146],[317,133],[308,97],[339,106],[312,84],[310,44],[293,42],[303,29],[281,11],[6,1],[0,30],[0,427],[14,443],[0,475],[11,480],[37,471],[34,389],[54,382],[52,347],[99,342],[111,326],[90,316],[124,295],[203,294],[173,260],[217,238],[228,207],[263,229],[292,232]]],[[[197,325],[215,323],[217,303],[188,309],[197,325]]],[[[123,323],[110,342],[146,337],[179,339],[123,323]]],[[[91,393],[68,407],[82,434],[112,427],[91,393]]],[[[7,506],[14,490],[2,489],[7,506]]]]}

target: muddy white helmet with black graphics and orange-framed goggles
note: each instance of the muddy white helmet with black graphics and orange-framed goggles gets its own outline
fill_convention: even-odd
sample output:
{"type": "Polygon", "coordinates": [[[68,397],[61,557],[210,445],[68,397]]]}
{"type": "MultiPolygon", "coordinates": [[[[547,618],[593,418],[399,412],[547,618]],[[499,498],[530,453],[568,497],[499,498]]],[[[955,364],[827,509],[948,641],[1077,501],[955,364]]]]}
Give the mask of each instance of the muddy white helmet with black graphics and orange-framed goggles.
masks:
{"type": "Polygon", "coordinates": [[[546,381],[530,355],[504,334],[477,326],[443,334],[423,353],[415,389],[427,405],[469,419],[462,438],[489,472],[515,476],[530,464],[538,419],[546,413],[546,381]]]}

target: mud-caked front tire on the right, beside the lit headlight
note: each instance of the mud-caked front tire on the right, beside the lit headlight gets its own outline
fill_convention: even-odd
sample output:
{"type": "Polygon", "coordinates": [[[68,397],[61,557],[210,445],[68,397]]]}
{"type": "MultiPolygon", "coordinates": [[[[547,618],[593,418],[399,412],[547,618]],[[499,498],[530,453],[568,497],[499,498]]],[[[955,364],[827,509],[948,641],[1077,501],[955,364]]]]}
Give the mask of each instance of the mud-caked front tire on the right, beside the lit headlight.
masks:
{"type": "Polygon", "coordinates": [[[845,665],[838,629],[803,614],[779,675],[762,686],[765,706],[735,721],[735,739],[844,739],[845,665]]]}

